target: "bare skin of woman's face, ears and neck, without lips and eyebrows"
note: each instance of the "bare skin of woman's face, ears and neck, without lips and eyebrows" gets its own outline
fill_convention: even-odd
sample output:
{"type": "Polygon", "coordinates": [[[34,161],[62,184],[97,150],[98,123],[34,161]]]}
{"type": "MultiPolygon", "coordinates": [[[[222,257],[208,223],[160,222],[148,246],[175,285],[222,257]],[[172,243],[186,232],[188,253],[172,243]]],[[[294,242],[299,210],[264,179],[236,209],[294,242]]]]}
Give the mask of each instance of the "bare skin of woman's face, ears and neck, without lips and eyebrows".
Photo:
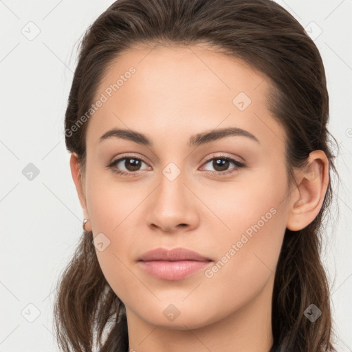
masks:
{"type": "Polygon", "coordinates": [[[74,153],[70,160],[87,228],[110,241],[96,254],[126,306],[129,347],[268,352],[285,229],[305,228],[318,214],[327,190],[327,157],[312,152],[309,167],[296,171],[297,186],[289,187],[285,131],[265,104],[270,82],[239,59],[200,46],[135,47],[110,67],[96,100],[131,66],[135,74],[86,122],[83,179],[74,153]],[[243,95],[233,102],[240,92],[250,104],[243,95]],[[192,135],[227,127],[248,131],[258,141],[228,135],[188,146],[192,135]],[[143,133],[153,146],[119,137],[99,142],[113,128],[143,133]],[[224,156],[245,166],[229,162],[221,169],[211,159],[224,156]],[[139,168],[131,159],[107,167],[120,157],[142,161],[139,168]],[[241,242],[255,224],[259,230],[241,242]],[[181,280],[155,278],[137,258],[159,247],[187,248],[212,262],[181,280]],[[170,320],[170,311],[177,318],[170,320]]]}

